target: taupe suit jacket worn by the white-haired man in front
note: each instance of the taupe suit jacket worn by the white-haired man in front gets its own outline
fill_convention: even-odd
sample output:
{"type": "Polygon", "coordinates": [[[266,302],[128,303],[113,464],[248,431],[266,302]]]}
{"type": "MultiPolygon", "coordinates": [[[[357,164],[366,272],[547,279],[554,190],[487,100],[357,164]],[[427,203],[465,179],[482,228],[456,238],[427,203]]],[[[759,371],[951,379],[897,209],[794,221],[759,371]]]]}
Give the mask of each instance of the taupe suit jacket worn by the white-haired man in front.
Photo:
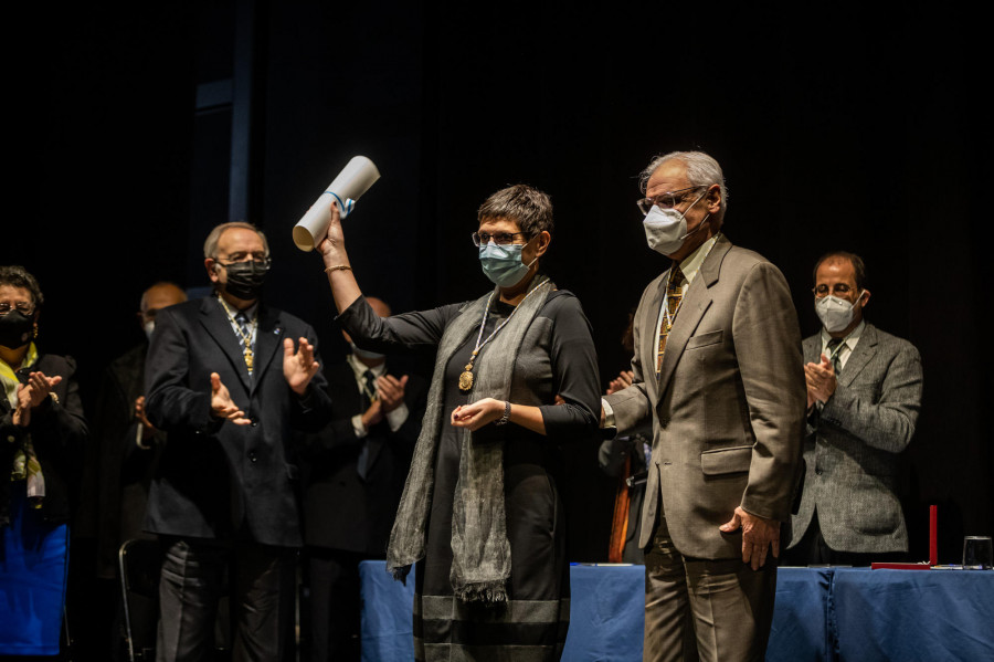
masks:
{"type": "Polygon", "coordinates": [[[651,543],[662,496],[677,550],[737,558],[741,532],[718,530],[737,506],[790,521],[806,404],[797,315],[783,274],[722,235],[684,297],[657,383],[667,276],[635,313],[634,383],[606,397],[620,433],[653,419],[639,545],[651,543]]]}

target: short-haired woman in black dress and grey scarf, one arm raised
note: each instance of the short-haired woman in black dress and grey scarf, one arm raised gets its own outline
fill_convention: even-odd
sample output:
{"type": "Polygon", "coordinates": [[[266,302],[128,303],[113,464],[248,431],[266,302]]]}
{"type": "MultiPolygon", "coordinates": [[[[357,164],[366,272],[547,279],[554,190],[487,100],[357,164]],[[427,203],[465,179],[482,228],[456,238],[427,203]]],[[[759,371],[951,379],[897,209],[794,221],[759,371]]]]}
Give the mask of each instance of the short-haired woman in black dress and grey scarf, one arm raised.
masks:
{"type": "Polygon", "coordinates": [[[432,311],[380,318],[370,309],[337,210],[320,250],[357,345],[436,351],[387,555],[396,577],[417,564],[415,658],[558,660],[569,564],[552,476],[558,446],[596,432],[596,355],[577,297],[539,271],[552,239],[549,197],[509,187],[478,220],[473,240],[496,287],[432,311]]]}

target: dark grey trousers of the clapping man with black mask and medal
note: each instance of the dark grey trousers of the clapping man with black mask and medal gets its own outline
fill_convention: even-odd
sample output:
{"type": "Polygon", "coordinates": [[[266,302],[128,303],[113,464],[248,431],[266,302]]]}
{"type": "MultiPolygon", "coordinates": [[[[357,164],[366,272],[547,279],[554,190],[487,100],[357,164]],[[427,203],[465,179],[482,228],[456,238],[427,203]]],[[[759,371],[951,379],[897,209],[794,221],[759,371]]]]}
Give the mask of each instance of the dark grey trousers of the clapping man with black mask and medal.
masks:
{"type": "Polygon", "coordinates": [[[293,616],[294,549],[252,542],[162,538],[157,662],[209,662],[223,596],[233,662],[279,662],[293,616]]]}

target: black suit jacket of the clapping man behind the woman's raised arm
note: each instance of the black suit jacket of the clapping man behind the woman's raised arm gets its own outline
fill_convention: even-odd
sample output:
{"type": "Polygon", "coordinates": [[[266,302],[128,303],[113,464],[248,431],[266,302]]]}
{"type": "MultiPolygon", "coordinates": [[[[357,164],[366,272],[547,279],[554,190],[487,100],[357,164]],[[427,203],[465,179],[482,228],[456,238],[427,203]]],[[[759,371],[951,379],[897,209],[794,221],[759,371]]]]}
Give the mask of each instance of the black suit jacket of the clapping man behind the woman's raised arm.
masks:
{"type": "MultiPolygon", "coordinates": [[[[388,374],[400,378],[400,375],[388,374]]],[[[410,375],[410,374],[409,374],[410,375]]],[[[423,379],[410,375],[404,388],[408,419],[396,432],[385,418],[358,439],[352,417],[368,407],[348,362],[325,370],[335,418],[317,434],[306,435],[305,542],[317,547],[383,556],[396,516],[411,453],[421,431],[427,393],[423,379]],[[366,480],[358,460],[369,448],[366,480]]]]}

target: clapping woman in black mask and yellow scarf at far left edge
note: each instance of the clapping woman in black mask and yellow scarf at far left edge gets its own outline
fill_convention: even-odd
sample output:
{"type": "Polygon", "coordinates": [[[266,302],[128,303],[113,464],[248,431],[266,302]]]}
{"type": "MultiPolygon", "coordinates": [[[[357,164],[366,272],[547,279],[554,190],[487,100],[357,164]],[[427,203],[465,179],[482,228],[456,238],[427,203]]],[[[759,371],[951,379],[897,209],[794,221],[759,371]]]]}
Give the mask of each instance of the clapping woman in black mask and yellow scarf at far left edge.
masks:
{"type": "Polygon", "coordinates": [[[44,296],[0,266],[0,655],[55,655],[68,522],[88,434],[76,364],[35,339],[44,296]]]}

